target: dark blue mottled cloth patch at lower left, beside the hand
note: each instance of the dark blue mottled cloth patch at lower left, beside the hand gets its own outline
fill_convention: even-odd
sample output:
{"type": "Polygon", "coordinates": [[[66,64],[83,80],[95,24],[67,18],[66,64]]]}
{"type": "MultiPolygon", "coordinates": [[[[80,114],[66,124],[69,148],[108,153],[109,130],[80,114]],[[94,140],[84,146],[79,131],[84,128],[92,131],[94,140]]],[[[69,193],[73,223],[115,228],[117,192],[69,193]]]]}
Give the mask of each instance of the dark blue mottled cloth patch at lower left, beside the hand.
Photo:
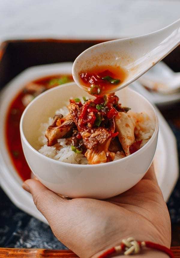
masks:
{"type": "Polygon", "coordinates": [[[48,225],[19,210],[1,188],[0,247],[67,249],[48,225]]]}

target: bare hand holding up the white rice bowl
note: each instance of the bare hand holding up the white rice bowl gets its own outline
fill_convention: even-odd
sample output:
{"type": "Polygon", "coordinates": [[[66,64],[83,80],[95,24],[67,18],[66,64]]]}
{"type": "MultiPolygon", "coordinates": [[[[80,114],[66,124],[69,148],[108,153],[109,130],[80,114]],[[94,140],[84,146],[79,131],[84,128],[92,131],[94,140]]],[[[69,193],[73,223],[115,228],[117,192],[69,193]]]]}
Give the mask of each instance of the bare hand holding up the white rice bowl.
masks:
{"type": "Polygon", "coordinates": [[[58,240],[80,257],[97,257],[130,236],[170,247],[170,217],[152,166],[137,185],[106,201],[67,200],[33,179],[23,188],[58,240]]]}

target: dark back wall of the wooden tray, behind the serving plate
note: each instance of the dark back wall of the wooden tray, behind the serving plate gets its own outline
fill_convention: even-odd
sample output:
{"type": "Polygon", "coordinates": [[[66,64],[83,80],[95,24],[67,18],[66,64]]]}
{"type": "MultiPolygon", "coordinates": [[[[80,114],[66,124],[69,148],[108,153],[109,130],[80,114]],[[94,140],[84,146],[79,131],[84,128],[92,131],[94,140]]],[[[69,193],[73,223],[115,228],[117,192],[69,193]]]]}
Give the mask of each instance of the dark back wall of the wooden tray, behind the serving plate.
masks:
{"type": "MultiPolygon", "coordinates": [[[[4,41],[0,46],[0,88],[24,69],[41,64],[73,62],[86,48],[103,40],[29,39],[4,41]]],[[[180,47],[164,58],[180,71],[180,47]]]]}

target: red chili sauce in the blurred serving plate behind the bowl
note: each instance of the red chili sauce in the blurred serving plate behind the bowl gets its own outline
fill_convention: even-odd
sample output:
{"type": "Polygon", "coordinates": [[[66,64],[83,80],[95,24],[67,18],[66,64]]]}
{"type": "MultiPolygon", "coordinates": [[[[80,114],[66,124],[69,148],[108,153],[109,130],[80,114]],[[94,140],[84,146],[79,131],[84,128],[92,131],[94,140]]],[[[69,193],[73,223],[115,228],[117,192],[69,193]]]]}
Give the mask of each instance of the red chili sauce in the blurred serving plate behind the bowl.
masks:
{"type": "MultiPolygon", "coordinates": [[[[41,85],[42,91],[46,91],[49,88],[55,87],[59,84],[73,81],[72,75],[52,75],[37,79],[32,81],[35,83],[35,88],[38,89],[38,85],[41,85]],[[44,88],[43,88],[44,87],[44,88]]],[[[14,167],[16,168],[19,176],[22,180],[27,180],[31,177],[31,170],[26,162],[26,159],[23,154],[20,131],[19,131],[19,122],[21,115],[26,108],[24,106],[22,99],[29,94],[33,97],[40,94],[38,90],[33,91],[32,87],[28,88],[25,85],[10,103],[9,110],[7,112],[6,124],[5,124],[5,135],[7,142],[7,149],[9,151],[10,158],[13,162],[14,167]]],[[[32,97],[32,99],[33,99],[32,97]]]]}

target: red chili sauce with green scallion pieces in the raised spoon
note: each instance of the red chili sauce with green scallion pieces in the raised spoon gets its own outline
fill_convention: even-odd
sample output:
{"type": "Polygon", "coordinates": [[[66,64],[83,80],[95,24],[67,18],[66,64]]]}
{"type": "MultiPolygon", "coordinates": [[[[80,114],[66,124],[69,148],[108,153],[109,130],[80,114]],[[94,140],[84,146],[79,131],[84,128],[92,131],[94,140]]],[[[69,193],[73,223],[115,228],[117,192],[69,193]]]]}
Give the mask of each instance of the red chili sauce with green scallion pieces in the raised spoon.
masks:
{"type": "Polygon", "coordinates": [[[91,95],[105,95],[109,91],[116,91],[127,72],[120,66],[96,66],[91,70],[79,73],[82,85],[91,95]]]}

